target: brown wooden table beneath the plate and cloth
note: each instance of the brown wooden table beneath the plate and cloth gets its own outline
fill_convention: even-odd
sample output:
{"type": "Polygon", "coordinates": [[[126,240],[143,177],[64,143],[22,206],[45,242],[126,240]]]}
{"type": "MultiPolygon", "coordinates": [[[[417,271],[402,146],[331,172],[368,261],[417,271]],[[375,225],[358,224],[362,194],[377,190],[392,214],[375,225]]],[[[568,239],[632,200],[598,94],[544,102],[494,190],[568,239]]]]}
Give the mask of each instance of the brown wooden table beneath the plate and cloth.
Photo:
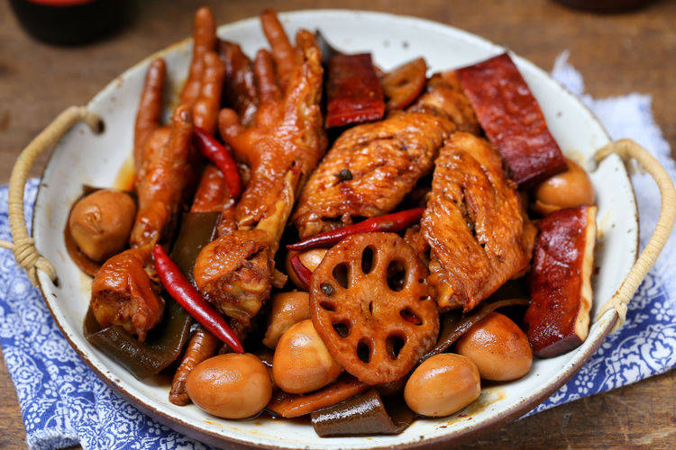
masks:
{"type": "MultiPolygon", "coordinates": [[[[676,148],[676,2],[656,2],[631,14],[575,12],[549,0],[159,1],[136,6],[135,19],[116,36],[82,48],[54,48],[29,39],[7,2],[0,2],[0,182],[14,158],[61,110],[84,104],[152,52],[190,33],[198,4],[219,23],[280,10],[352,7],[433,19],[506,45],[545,70],[563,50],[594,96],[643,92],[676,148]],[[283,5],[282,5],[283,4],[283,5]]],[[[33,169],[34,175],[40,168],[33,169]]],[[[25,446],[14,386],[0,364],[0,447],[25,446]]],[[[657,376],[616,391],[545,411],[487,433],[470,446],[676,446],[676,377],[657,376]]]]}

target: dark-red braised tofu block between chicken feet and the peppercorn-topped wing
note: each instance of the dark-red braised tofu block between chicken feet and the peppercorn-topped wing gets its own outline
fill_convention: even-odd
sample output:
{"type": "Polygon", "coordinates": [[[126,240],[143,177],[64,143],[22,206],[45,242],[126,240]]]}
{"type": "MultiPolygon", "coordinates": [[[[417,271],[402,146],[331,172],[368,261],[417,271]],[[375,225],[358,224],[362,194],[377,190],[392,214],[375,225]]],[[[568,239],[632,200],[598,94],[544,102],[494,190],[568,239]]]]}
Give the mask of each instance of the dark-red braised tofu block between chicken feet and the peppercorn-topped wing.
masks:
{"type": "Polygon", "coordinates": [[[385,99],[369,53],[333,55],[326,81],[326,127],[378,121],[385,99]]]}

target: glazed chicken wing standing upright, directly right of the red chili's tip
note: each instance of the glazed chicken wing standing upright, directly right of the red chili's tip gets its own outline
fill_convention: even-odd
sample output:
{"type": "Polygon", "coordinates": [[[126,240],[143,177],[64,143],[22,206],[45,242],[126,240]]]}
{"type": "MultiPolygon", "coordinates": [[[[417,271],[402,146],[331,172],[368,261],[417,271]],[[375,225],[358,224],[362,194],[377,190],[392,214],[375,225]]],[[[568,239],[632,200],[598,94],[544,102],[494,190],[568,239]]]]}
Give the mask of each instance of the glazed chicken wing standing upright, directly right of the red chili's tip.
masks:
{"type": "Polygon", "coordinates": [[[470,133],[454,133],[440,150],[421,224],[442,308],[471,310],[530,262],[535,228],[516,184],[498,151],[470,133]]]}

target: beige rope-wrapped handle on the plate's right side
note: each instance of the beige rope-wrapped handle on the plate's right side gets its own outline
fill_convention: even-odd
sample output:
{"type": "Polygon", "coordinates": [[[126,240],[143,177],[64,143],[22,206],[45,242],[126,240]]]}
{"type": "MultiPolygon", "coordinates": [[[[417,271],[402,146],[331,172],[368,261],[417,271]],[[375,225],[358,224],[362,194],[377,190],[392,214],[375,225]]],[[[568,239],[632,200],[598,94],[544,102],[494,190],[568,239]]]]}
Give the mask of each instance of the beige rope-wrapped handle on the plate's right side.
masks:
{"type": "Polygon", "coordinates": [[[608,299],[607,302],[601,306],[601,311],[598,312],[597,320],[608,310],[617,311],[617,321],[610,331],[611,333],[614,333],[625,323],[627,304],[634,296],[639,284],[641,284],[645,275],[655,263],[664,244],[666,244],[667,239],[669,239],[669,236],[671,235],[673,222],[676,218],[676,190],[674,190],[671,177],[667,171],[664,170],[664,167],[660,165],[660,162],[655,159],[648,150],[641,147],[634,140],[620,139],[607,144],[607,146],[598,149],[594,155],[594,159],[598,163],[611,153],[616,153],[627,163],[631,159],[635,159],[638,164],[643,166],[643,168],[653,176],[657,187],[660,188],[660,194],[662,195],[660,219],[657,220],[653,236],[648,240],[648,244],[645,246],[644,251],[641,252],[641,255],[636,259],[634,266],[629,271],[629,274],[626,275],[625,281],[622,282],[615,295],[608,299]]]}

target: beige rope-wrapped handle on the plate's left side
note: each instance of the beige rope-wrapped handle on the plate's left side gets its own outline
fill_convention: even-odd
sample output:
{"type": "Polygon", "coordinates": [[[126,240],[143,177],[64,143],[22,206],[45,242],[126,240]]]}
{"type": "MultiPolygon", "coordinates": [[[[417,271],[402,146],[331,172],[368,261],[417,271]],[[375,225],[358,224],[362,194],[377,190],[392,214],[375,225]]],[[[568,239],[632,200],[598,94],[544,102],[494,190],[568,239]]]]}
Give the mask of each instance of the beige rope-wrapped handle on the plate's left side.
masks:
{"type": "Polygon", "coordinates": [[[86,122],[95,133],[103,131],[103,121],[94,112],[88,111],[84,106],[70,106],[32,139],[26,148],[23,148],[9,178],[7,211],[14,243],[0,240],[0,247],[9,248],[14,252],[17,264],[23,267],[35,287],[38,286],[38,269],[49,275],[52,281],[56,280],[56,271],[46,258],[41,257],[35,248],[35,241],[28,235],[23,219],[23,190],[35,159],[56,144],[78,121],[86,122]]]}

